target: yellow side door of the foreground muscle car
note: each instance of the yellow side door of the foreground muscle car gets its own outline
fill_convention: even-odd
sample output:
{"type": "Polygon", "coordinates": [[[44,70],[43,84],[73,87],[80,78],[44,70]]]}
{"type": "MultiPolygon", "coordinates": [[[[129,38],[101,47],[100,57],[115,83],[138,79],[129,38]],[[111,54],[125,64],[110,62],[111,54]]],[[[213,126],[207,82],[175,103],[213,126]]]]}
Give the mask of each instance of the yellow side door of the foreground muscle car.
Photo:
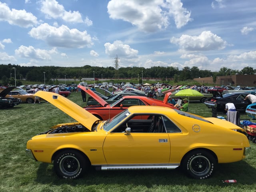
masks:
{"type": "MultiPolygon", "coordinates": [[[[142,115],[140,115],[142,116],[142,115]]],[[[165,164],[170,161],[170,139],[166,131],[145,132],[152,120],[133,117],[128,122],[130,134],[110,132],[104,141],[103,151],[107,164],[165,164]],[[136,128],[137,127],[137,128],[136,128]]],[[[125,125],[126,123],[124,123],[125,125]]],[[[126,127],[126,126],[125,126],[126,127]]]]}

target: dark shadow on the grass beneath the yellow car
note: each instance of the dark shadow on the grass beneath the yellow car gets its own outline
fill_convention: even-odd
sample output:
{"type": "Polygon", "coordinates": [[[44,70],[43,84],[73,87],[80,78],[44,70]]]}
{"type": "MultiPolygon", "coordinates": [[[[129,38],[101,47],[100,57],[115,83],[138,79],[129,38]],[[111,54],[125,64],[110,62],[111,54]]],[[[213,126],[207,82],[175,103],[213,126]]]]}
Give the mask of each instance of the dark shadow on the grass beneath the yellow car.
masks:
{"type": "Polygon", "coordinates": [[[96,171],[90,168],[89,173],[77,180],[64,180],[58,178],[53,166],[46,163],[40,163],[37,171],[36,182],[41,184],[63,185],[133,185],[147,186],[153,185],[207,185],[207,186],[226,186],[222,180],[236,179],[239,185],[253,185],[256,181],[252,179],[256,169],[245,161],[219,164],[212,178],[197,180],[188,178],[181,170],[116,170],[116,171],[96,171]]]}

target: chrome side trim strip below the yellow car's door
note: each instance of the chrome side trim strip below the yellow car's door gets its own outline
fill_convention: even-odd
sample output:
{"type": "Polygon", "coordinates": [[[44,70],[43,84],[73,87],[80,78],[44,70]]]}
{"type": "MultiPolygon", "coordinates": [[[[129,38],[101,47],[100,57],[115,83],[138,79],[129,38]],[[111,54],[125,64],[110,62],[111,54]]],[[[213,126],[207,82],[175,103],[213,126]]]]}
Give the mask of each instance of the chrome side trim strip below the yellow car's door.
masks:
{"type": "Polygon", "coordinates": [[[136,170],[136,169],[175,169],[180,164],[125,164],[125,165],[94,165],[101,170],[136,170]]]}

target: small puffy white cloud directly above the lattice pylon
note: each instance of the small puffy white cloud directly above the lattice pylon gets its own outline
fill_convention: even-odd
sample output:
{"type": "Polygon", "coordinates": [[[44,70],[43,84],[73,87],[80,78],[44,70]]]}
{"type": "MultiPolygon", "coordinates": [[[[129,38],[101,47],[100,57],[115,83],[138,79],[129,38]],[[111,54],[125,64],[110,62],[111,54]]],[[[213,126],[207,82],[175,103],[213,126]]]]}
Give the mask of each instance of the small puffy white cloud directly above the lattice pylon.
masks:
{"type": "Polygon", "coordinates": [[[122,41],[115,41],[113,44],[105,43],[105,52],[110,57],[118,56],[124,58],[136,58],[138,55],[138,50],[130,48],[129,45],[123,44],[122,41]]]}

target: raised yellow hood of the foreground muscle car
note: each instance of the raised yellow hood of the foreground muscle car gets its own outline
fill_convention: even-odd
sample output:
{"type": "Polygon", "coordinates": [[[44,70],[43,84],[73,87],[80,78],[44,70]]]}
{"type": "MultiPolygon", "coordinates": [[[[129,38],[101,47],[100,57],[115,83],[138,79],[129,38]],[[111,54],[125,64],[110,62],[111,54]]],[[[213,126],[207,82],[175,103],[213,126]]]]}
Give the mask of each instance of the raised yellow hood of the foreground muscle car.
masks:
{"type": "Polygon", "coordinates": [[[62,110],[64,113],[74,118],[80,124],[88,128],[88,130],[90,131],[92,131],[93,124],[96,121],[100,120],[90,112],[84,110],[79,105],[59,94],[47,91],[38,91],[34,94],[34,96],[38,96],[50,102],[51,104],[62,110]]]}

